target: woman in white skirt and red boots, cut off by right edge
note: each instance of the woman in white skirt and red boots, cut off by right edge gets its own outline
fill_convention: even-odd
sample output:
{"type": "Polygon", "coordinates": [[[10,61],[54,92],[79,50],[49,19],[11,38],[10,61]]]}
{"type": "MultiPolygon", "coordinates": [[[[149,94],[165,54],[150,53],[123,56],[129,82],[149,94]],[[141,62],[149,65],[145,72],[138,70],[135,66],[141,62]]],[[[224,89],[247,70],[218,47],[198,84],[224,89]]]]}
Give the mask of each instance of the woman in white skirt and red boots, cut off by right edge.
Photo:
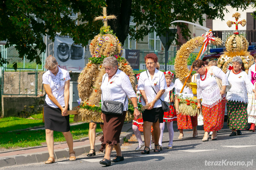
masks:
{"type": "MultiPolygon", "coordinates": [[[[256,63],[256,54],[253,56],[254,62],[256,63]]],[[[253,88],[256,88],[256,64],[252,64],[252,66],[248,70],[248,77],[249,80],[253,84],[253,88]]],[[[248,123],[251,124],[249,131],[255,131],[255,123],[256,123],[256,100],[254,93],[248,93],[248,106],[247,106],[247,113],[248,113],[248,123]]]]}

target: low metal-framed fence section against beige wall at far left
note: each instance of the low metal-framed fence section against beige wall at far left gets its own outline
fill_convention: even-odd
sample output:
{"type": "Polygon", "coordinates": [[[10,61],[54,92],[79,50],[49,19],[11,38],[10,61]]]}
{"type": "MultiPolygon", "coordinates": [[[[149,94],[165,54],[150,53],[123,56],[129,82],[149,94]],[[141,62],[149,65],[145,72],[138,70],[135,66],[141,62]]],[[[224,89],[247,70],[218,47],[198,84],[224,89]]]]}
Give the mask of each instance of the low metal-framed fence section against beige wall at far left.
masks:
{"type": "Polygon", "coordinates": [[[1,95],[36,95],[37,96],[37,70],[18,68],[14,71],[12,68],[2,69],[1,75],[1,95]]]}

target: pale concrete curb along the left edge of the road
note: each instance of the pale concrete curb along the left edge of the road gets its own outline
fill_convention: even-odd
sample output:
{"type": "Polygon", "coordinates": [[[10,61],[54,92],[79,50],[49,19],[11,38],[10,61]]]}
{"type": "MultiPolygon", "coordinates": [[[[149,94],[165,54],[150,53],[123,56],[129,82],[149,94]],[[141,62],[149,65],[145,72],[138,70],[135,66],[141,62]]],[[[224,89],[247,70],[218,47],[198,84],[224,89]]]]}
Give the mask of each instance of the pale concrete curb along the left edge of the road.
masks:
{"type": "MultiPolygon", "coordinates": [[[[130,137],[132,135],[133,135],[133,132],[121,132],[120,144],[124,143],[124,139],[130,139],[130,137]]],[[[88,137],[85,137],[85,138],[88,138],[88,137]]],[[[85,139],[83,138],[83,140],[85,140],[85,139]]],[[[78,140],[78,141],[80,141],[80,140],[78,140]]],[[[40,146],[40,147],[42,147],[42,146],[40,146]]],[[[96,152],[98,152],[100,148],[101,148],[101,142],[95,143],[96,152]]],[[[30,149],[30,148],[27,148],[27,149],[30,149]]],[[[20,149],[20,150],[22,150],[22,149],[20,149]]],[[[82,155],[84,153],[88,153],[90,151],[90,144],[82,145],[79,147],[74,147],[74,151],[76,152],[76,156],[82,155]]],[[[54,151],[54,155],[55,155],[56,159],[69,158],[69,150],[68,150],[68,148],[58,149],[58,150],[54,151]]],[[[44,162],[48,159],[48,157],[49,157],[48,151],[31,153],[31,154],[29,154],[29,153],[21,154],[21,155],[15,155],[15,156],[10,156],[10,157],[1,157],[0,158],[0,168],[4,167],[4,166],[13,166],[13,165],[28,164],[28,163],[44,162]]]]}

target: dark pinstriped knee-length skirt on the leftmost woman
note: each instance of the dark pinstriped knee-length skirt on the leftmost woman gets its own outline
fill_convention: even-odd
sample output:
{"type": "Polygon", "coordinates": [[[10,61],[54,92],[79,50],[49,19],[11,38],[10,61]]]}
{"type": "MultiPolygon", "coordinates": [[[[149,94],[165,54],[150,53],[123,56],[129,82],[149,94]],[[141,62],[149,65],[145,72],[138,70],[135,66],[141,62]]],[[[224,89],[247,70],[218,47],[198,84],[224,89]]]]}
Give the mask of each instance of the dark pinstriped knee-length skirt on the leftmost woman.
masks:
{"type": "Polygon", "coordinates": [[[69,115],[62,116],[60,108],[44,103],[44,127],[57,132],[68,132],[70,130],[69,115]]]}

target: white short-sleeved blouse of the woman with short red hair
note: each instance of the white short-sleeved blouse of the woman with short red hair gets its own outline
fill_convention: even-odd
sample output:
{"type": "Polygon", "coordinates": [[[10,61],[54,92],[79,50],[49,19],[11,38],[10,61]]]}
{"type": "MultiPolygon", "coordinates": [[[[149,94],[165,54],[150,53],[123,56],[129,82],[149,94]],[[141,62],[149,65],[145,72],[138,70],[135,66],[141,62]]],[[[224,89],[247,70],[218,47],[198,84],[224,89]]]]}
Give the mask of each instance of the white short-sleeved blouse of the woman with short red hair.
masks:
{"type": "MultiPolygon", "coordinates": [[[[166,80],[163,72],[155,69],[155,74],[153,78],[151,79],[150,73],[148,70],[142,72],[139,76],[138,81],[138,90],[144,90],[147,96],[147,101],[150,103],[155,99],[155,92],[152,89],[152,87],[155,89],[155,92],[158,93],[159,90],[165,90],[167,89],[166,80]],[[147,73],[149,77],[147,76],[147,73]]],[[[162,95],[160,99],[163,101],[164,96],[162,95]]],[[[142,99],[141,104],[143,106],[146,105],[145,101],[142,99]]],[[[155,102],[154,108],[162,107],[162,103],[160,100],[155,102]]]]}

